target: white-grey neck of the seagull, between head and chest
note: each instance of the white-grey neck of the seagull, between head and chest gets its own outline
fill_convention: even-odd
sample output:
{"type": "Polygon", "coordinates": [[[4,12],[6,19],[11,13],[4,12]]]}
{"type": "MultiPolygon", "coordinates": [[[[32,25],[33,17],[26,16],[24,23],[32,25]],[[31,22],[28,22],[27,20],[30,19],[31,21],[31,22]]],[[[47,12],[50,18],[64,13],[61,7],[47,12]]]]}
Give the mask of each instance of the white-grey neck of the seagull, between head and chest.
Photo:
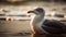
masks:
{"type": "Polygon", "coordinates": [[[33,15],[31,23],[32,23],[32,25],[42,24],[43,20],[44,20],[44,14],[33,15]]]}

